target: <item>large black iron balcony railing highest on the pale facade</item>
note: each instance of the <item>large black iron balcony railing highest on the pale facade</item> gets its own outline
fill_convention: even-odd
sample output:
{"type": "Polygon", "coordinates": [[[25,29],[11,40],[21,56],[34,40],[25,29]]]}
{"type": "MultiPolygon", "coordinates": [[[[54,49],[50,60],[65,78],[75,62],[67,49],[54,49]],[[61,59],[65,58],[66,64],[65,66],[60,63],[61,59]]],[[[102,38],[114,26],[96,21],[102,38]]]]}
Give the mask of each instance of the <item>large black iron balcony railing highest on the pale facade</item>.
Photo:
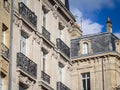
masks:
{"type": "Polygon", "coordinates": [[[37,27],[37,16],[23,2],[19,3],[19,13],[34,27],[37,27]]]}

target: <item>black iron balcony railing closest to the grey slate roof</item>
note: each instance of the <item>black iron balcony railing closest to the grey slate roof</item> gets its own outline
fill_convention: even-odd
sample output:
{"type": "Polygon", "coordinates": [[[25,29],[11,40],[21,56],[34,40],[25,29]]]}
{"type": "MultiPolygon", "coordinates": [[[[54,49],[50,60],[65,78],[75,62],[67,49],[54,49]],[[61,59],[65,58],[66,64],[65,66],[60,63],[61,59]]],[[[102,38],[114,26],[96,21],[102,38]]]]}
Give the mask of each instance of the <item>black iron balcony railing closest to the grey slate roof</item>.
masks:
{"type": "Polygon", "coordinates": [[[70,48],[60,38],[58,38],[56,41],[58,49],[60,49],[62,53],[70,58],[70,48]]]}

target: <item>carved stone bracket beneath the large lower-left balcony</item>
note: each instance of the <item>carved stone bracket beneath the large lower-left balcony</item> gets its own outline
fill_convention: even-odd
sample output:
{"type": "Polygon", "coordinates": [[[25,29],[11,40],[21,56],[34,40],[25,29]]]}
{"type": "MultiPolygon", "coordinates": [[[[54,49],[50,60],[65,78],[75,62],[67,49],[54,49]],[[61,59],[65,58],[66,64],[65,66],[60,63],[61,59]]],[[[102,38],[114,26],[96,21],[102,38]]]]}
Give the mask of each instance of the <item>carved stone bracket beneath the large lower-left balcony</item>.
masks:
{"type": "Polygon", "coordinates": [[[18,78],[19,78],[20,84],[24,89],[27,89],[34,84],[34,81],[29,79],[27,76],[22,75],[20,72],[18,72],[18,78]]]}

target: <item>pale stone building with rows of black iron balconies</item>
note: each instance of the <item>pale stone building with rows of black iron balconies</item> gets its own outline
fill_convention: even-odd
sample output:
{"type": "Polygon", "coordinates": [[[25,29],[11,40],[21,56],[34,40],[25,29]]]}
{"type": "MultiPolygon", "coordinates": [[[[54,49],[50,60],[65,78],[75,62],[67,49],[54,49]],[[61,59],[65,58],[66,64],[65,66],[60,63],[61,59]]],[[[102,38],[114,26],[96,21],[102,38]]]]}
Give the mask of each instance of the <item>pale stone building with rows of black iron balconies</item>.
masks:
{"type": "Polygon", "coordinates": [[[68,8],[65,0],[14,0],[11,90],[71,90],[68,8]]]}

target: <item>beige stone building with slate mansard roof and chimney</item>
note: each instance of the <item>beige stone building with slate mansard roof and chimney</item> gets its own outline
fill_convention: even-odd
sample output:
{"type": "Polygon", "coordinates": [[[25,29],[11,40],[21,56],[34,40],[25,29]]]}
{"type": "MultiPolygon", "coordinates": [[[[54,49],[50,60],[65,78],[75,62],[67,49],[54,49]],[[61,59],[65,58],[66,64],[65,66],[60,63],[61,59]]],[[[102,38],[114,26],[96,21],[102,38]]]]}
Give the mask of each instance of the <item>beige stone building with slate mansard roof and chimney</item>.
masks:
{"type": "Polygon", "coordinates": [[[120,89],[120,39],[110,18],[106,26],[107,32],[71,40],[72,90],[120,89]]]}

